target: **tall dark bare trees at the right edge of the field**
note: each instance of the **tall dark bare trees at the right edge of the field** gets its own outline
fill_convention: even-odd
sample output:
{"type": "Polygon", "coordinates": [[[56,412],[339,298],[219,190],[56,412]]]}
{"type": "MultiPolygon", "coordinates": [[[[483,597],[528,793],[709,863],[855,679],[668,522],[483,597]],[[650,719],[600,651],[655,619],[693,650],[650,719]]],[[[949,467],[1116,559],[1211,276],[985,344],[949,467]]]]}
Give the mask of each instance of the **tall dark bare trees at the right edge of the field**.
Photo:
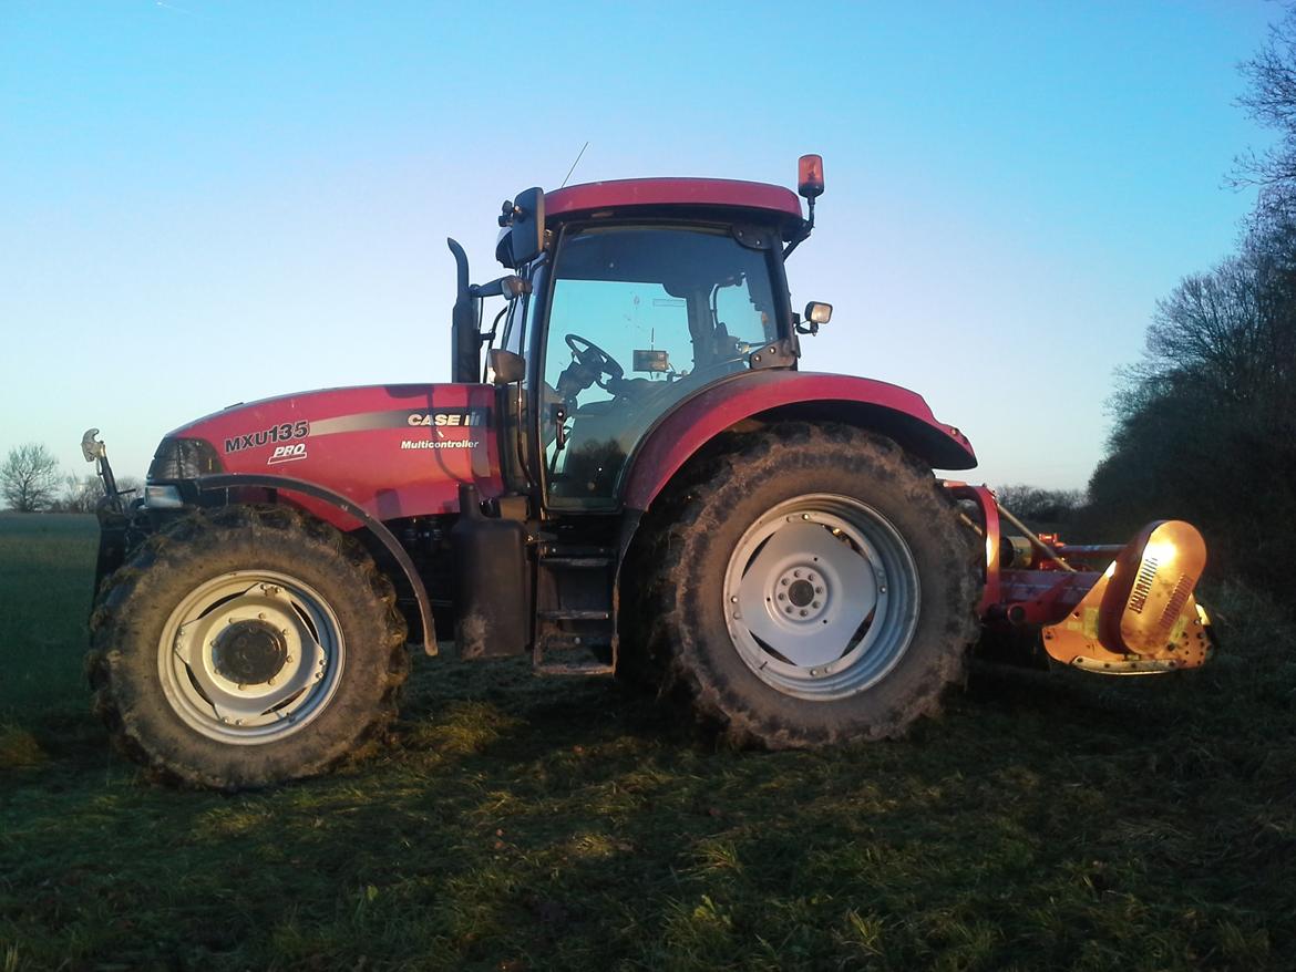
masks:
{"type": "Polygon", "coordinates": [[[1240,105],[1278,136],[1231,175],[1255,209],[1236,253],[1159,302],[1078,520],[1117,535],[1188,520],[1217,579],[1296,605],[1296,10],[1243,71],[1240,105]]]}

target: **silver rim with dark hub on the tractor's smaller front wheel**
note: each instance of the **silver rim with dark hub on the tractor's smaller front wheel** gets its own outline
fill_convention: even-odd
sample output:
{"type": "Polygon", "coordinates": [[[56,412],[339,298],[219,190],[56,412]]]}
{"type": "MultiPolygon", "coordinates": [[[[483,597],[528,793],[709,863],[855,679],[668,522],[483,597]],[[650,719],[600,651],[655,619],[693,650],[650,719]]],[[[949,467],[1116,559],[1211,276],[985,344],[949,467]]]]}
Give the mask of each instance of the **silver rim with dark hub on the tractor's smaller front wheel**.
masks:
{"type": "Polygon", "coordinates": [[[172,710],[238,745],[299,732],[337,692],[346,642],[310,584],[236,570],[193,588],[162,629],[158,670],[172,710]]]}

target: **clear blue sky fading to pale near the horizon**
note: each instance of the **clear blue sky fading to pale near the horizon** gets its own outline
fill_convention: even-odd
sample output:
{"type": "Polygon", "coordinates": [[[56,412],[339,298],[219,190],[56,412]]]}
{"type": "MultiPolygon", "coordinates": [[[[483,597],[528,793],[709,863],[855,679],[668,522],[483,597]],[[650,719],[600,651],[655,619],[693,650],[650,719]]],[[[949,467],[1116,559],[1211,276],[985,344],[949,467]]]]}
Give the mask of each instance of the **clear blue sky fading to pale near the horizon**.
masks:
{"type": "Polygon", "coordinates": [[[1266,135],[1214,3],[0,0],[0,455],[119,474],[237,400],[448,377],[454,264],[573,181],[793,184],[802,367],[921,393],[973,481],[1080,487],[1157,298],[1227,254],[1266,135]],[[804,10],[804,13],[798,13],[804,10]]]}

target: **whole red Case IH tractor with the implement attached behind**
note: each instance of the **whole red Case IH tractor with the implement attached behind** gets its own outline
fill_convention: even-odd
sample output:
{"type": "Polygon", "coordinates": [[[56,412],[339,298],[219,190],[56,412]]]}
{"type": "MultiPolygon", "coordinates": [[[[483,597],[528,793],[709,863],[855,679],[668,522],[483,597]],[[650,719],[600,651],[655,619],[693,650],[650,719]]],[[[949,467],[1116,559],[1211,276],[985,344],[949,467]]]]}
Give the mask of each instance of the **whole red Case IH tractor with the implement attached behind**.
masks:
{"type": "Polygon", "coordinates": [[[527,189],[507,276],[470,285],[448,241],[450,384],[233,406],[166,435],[130,504],[87,433],[118,739],[192,784],[316,774],[394,717],[407,640],[451,631],[465,658],[679,688],[771,748],[901,732],[985,632],[1095,671],[1200,665],[1191,526],[1013,539],[989,490],[932,474],[976,457],[919,395],[800,369],[832,311],[793,312],[784,272],[815,156],[800,192],[806,216],[718,179],[527,189]]]}

